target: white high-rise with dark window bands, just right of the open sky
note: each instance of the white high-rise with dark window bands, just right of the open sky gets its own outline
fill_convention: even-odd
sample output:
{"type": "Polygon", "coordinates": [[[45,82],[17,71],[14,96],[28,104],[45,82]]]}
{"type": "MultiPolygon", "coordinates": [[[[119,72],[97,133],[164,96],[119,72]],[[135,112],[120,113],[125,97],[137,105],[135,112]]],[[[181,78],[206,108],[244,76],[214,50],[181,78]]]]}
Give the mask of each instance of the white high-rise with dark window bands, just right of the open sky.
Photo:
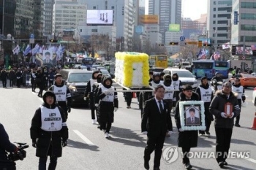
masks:
{"type": "Polygon", "coordinates": [[[208,0],[207,31],[215,47],[230,42],[230,19],[233,0],[208,0]]]}

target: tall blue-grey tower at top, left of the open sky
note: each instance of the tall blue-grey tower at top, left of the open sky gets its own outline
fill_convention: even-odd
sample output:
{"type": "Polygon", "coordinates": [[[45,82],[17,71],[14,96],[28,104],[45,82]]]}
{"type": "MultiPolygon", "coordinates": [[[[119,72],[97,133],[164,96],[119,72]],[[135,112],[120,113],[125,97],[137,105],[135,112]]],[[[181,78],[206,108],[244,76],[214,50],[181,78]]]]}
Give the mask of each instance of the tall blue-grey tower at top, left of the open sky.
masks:
{"type": "Polygon", "coordinates": [[[162,43],[169,24],[181,24],[181,0],[148,0],[148,15],[159,15],[162,43]]]}

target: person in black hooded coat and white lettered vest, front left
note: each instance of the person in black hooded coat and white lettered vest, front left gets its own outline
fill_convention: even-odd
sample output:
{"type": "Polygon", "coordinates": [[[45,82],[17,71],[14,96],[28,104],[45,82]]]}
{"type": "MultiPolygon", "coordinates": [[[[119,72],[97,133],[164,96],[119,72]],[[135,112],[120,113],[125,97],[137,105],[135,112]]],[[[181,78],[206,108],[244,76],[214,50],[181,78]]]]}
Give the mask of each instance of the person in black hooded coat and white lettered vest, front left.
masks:
{"type": "Polygon", "coordinates": [[[66,117],[63,109],[56,104],[56,96],[47,91],[42,96],[44,103],[36,110],[31,121],[30,136],[32,146],[37,148],[39,170],[46,170],[46,162],[50,156],[48,169],[56,169],[57,158],[62,155],[62,147],[67,146],[69,137],[66,117]]]}

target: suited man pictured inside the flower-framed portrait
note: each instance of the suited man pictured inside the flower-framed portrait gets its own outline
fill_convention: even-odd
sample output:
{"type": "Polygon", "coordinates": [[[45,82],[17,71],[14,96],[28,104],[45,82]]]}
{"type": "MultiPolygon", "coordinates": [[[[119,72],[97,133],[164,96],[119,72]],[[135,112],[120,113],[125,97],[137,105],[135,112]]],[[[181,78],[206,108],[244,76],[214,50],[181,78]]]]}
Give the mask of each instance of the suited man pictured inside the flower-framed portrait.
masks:
{"type": "Polygon", "coordinates": [[[189,113],[186,112],[186,125],[200,125],[198,110],[195,107],[191,107],[188,111],[189,113]]]}

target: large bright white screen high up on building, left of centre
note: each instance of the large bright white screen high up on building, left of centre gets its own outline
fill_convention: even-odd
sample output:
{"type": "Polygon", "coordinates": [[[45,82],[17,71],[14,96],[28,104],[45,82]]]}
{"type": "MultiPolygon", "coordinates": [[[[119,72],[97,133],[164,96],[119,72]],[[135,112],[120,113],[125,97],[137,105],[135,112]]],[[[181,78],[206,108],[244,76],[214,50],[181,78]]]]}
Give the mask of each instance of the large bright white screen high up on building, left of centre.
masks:
{"type": "Polygon", "coordinates": [[[87,25],[113,25],[113,10],[87,10],[87,25]]]}

